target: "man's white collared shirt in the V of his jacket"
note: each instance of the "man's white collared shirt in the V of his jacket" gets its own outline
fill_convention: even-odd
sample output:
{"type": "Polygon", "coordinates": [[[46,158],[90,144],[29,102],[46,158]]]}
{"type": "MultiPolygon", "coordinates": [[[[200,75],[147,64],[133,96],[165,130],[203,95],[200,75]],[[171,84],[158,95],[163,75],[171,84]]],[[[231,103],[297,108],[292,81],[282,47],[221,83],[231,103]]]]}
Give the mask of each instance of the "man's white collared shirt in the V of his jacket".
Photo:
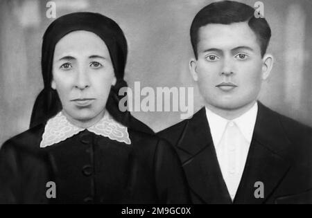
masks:
{"type": "Polygon", "coordinates": [[[248,156],[258,112],[257,102],[239,118],[227,120],[206,107],[216,156],[227,190],[234,200],[248,156]]]}

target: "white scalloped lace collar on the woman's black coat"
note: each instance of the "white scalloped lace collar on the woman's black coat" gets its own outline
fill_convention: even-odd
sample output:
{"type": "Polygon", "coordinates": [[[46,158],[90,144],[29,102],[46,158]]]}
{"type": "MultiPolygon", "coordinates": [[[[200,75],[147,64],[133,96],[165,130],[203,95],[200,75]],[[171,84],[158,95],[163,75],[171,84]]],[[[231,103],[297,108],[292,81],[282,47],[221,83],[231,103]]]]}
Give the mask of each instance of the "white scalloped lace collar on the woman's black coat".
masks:
{"type": "MultiPolygon", "coordinates": [[[[66,140],[83,130],[85,129],[72,125],[61,111],[46,122],[40,147],[47,147],[60,143],[62,140],[66,140]]],[[[127,127],[116,122],[108,111],[105,111],[100,121],[92,127],[87,128],[87,130],[92,131],[94,134],[117,140],[121,143],[131,144],[127,127]]]]}

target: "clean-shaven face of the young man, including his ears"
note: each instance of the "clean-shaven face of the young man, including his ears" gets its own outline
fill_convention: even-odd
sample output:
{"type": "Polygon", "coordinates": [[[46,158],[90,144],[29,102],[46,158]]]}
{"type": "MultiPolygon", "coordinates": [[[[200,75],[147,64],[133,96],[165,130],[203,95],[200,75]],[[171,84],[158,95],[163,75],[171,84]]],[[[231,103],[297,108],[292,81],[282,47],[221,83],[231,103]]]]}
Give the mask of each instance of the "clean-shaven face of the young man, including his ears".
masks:
{"type": "Polygon", "coordinates": [[[208,105],[233,110],[257,99],[270,71],[267,58],[247,22],[208,24],[198,32],[198,60],[190,69],[208,105]]]}

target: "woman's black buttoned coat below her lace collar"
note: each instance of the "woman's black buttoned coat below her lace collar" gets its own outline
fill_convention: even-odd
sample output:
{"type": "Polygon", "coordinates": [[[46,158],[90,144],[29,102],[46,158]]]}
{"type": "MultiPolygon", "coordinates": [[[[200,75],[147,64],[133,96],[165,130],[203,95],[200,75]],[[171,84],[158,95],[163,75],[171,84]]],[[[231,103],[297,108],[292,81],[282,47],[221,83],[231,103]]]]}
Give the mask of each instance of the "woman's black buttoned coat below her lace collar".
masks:
{"type": "Polygon", "coordinates": [[[11,138],[0,150],[0,203],[189,203],[172,146],[128,131],[131,145],[85,130],[40,148],[44,125],[11,138]]]}

